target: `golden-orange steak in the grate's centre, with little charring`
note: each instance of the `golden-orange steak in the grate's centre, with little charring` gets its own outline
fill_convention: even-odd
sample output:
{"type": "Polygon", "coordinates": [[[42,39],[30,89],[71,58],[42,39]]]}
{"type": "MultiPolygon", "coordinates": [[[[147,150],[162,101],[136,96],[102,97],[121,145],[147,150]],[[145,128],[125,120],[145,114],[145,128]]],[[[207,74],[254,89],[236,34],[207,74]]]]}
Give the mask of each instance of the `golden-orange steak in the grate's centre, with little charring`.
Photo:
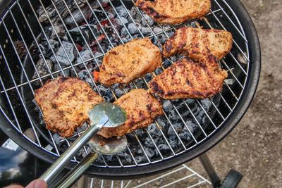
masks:
{"type": "Polygon", "coordinates": [[[148,39],[135,39],[111,49],[104,56],[99,82],[128,84],[161,65],[161,51],[148,39]]]}

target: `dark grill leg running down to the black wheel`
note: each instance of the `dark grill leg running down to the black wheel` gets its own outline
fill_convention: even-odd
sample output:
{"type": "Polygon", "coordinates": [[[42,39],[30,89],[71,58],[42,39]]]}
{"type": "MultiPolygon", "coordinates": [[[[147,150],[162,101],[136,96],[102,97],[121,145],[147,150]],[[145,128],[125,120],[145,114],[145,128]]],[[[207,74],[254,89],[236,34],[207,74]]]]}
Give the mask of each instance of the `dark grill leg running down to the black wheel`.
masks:
{"type": "Polygon", "coordinates": [[[207,156],[207,154],[202,154],[199,159],[202,163],[202,166],[204,167],[204,170],[209,176],[209,180],[211,180],[212,182],[212,186],[215,188],[219,187],[221,184],[221,180],[219,179],[219,176],[217,176],[216,171],[214,170],[214,166],[212,165],[211,161],[209,161],[209,157],[207,156]]]}

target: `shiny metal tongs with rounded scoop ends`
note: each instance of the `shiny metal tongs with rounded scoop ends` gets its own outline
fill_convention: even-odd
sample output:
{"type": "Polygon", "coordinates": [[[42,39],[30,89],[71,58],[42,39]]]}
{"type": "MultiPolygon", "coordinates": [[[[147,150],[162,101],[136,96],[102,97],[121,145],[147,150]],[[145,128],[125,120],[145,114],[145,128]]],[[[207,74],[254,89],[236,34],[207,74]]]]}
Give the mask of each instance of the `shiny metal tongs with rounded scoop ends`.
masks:
{"type": "Polygon", "coordinates": [[[47,184],[53,183],[55,177],[61,173],[63,168],[71,161],[71,158],[73,158],[87,142],[96,153],[89,153],[87,157],[80,161],[80,163],[66,175],[66,177],[63,177],[59,182],[60,185],[56,187],[70,186],[98,157],[97,153],[112,155],[125,149],[127,144],[126,137],[102,140],[102,138],[97,137],[97,135],[94,136],[102,127],[118,127],[125,123],[126,113],[121,107],[109,103],[97,104],[90,110],[89,118],[92,122],[90,127],[63,152],[60,158],[45,171],[40,179],[47,182],[47,184]]]}

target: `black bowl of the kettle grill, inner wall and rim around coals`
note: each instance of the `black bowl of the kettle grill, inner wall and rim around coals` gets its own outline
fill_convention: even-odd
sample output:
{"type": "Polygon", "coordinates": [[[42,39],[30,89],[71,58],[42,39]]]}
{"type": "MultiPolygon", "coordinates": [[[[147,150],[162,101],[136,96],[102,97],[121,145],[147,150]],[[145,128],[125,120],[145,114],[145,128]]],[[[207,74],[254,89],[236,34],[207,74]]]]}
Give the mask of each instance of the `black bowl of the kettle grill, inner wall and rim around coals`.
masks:
{"type": "MultiPolygon", "coordinates": [[[[39,1],[30,2],[36,10],[39,6],[39,1]]],[[[133,6],[130,1],[124,1],[123,3],[129,9],[133,6]]],[[[43,4],[44,6],[47,6],[50,2],[44,1],[43,4]]],[[[114,6],[118,6],[121,5],[121,2],[113,1],[112,4],[114,6]]],[[[226,56],[223,62],[223,64],[226,63],[228,68],[231,68],[229,71],[232,71],[233,75],[238,79],[238,82],[243,85],[243,89],[238,89],[240,88],[240,85],[235,82],[229,87],[229,89],[234,91],[235,95],[238,96],[238,101],[234,101],[232,94],[228,92],[227,88],[223,89],[221,96],[218,95],[211,99],[216,108],[212,106],[207,113],[212,119],[214,125],[216,125],[216,128],[213,128],[211,123],[203,123],[202,129],[207,134],[207,137],[204,137],[200,128],[197,127],[194,132],[194,136],[198,143],[196,144],[192,141],[185,142],[184,144],[187,148],[185,151],[183,151],[183,149],[175,149],[174,151],[176,152],[176,155],[173,155],[171,152],[164,153],[164,160],[152,161],[152,163],[138,163],[138,165],[121,166],[115,164],[110,167],[106,167],[101,163],[94,163],[94,165],[87,170],[87,175],[110,180],[126,180],[161,173],[164,170],[174,168],[182,163],[190,161],[211,149],[224,137],[226,137],[226,135],[230,133],[239,123],[240,119],[243,118],[243,115],[252,102],[259,82],[261,64],[259,39],[257,37],[255,25],[252,23],[250,15],[247,13],[240,1],[213,0],[212,4],[213,13],[206,16],[210,25],[204,20],[198,20],[200,25],[204,28],[212,26],[217,29],[222,29],[222,25],[215,19],[216,17],[214,16],[217,15],[218,11],[216,10],[220,9],[220,5],[226,15],[222,12],[222,10],[219,10],[221,15],[223,15],[222,18],[219,18],[219,20],[223,23],[226,30],[232,32],[236,42],[236,44],[233,45],[233,50],[231,51],[232,54],[235,54],[233,57],[237,58],[237,55],[240,54],[240,51],[236,48],[236,45],[238,45],[244,52],[246,52],[246,56],[250,59],[250,63],[247,63],[247,65],[240,64],[247,75],[245,75],[238,66],[232,68],[232,63],[234,63],[232,56],[226,56]],[[238,34],[238,31],[233,27],[231,21],[237,26],[238,30],[240,30],[242,35],[244,35],[245,39],[238,34]],[[229,112],[227,110],[228,108],[226,103],[231,105],[232,111],[229,112]],[[224,120],[220,119],[217,111],[222,113],[221,115],[224,116],[224,120]]],[[[35,70],[32,67],[32,60],[36,62],[38,57],[34,56],[30,58],[29,56],[25,56],[25,58],[19,61],[16,51],[13,49],[13,45],[11,44],[11,39],[14,42],[16,39],[21,39],[23,37],[27,47],[30,48],[30,46],[35,45],[34,37],[40,37],[42,32],[39,29],[39,24],[30,9],[28,1],[0,1],[0,15],[0,128],[8,135],[8,137],[11,137],[11,139],[28,152],[43,159],[44,161],[53,163],[57,158],[56,153],[42,148],[48,144],[54,146],[54,142],[50,137],[51,133],[44,128],[44,125],[39,123],[40,118],[38,112],[34,111],[35,104],[32,103],[33,94],[30,88],[35,90],[39,86],[35,81],[32,81],[29,84],[35,70]],[[23,12],[25,13],[34,36],[30,35],[30,30],[25,23],[25,19],[23,18],[18,4],[20,4],[23,12]],[[11,13],[8,13],[9,8],[13,12],[13,16],[11,16],[11,13]],[[14,24],[15,20],[18,23],[21,35],[19,32],[16,32],[18,28],[14,24]],[[23,69],[25,71],[23,71],[23,69]],[[13,75],[13,79],[11,77],[11,73],[13,75]],[[15,87],[14,82],[17,87],[15,87]],[[11,108],[11,106],[13,106],[13,108],[11,108]],[[30,128],[30,123],[34,125],[32,128],[37,133],[42,146],[39,146],[38,143],[32,143],[25,135],[20,133],[21,130],[24,132],[24,130],[30,128]]],[[[176,27],[181,27],[181,25],[176,27]]],[[[152,35],[151,38],[154,38],[154,35],[152,35]]],[[[222,66],[225,68],[224,65],[222,66]]],[[[50,77],[48,76],[44,77],[42,78],[42,81],[44,82],[49,78],[50,77]]],[[[178,103],[173,101],[173,104],[177,105],[178,103]]],[[[65,150],[64,147],[57,147],[59,152],[65,150]]],[[[75,162],[70,163],[68,168],[73,168],[75,164],[75,162]]]]}

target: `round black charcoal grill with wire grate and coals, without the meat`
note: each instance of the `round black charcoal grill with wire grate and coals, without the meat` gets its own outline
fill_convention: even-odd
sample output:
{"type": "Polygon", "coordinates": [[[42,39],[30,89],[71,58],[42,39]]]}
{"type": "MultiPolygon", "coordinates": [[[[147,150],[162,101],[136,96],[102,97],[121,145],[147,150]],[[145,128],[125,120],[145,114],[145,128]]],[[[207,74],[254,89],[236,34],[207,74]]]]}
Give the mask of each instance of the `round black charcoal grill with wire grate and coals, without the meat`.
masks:
{"type": "MultiPolygon", "coordinates": [[[[33,102],[35,89],[40,85],[58,75],[78,76],[90,82],[105,101],[114,101],[130,89],[147,89],[147,82],[154,75],[161,73],[176,58],[181,58],[165,59],[154,73],[122,89],[114,86],[105,90],[94,82],[92,71],[99,69],[102,57],[111,47],[134,38],[149,37],[160,47],[179,27],[228,30],[233,34],[233,49],[219,63],[228,70],[229,77],[224,82],[223,91],[212,99],[162,100],[163,117],[157,118],[147,129],[128,134],[129,144],[125,153],[102,156],[92,164],[87,174],[107,179],[128,179],[176,167],[219,143],[250,106],[259,81],[260,47],[255,26],[240,1],[212,0],[211,11],[204,18],[174,26],[152,23],[140,9],[133,10],[133,1],[97,0],[94,8],[98,10],[91,8],[87,14],[83,8],[93,6],[92,1],[60,2],[59,6],[58,1],[0,1],[0,127],[8,137],[44,161],[53,163],[83,129],[69,139],[58,139],[58,135],[44,128],[41,112],[33,102]],[[44,23],[40,23],[42,18],[37,13],[39,6],[43,13],[49,10],[49,6],[54,7],[54,14],[47,16],[44,23]],[[65,10],[63,13],[62,8],[65,10]],[[121,12],[121,9],[125,11],[121,12]],[[80,15],[80,20],[73,21],[77,15],[80,15]],[[58,23],[63,29],[57,29],[58,23]],[[62,30],[65,30],[64,36],[60,33],[62,30]],[[85,30],[88,30],[87,35],[85,30]],[[51,39],[51,35],[54,38],[51,39]],[[68,47],[63,44],[65,41],[73,47],[73,54],[68,54],[68,47]],[[42,43],[49,49],[42,48],[42,43]],[[59,47],[56,45],[64,46],[61,51],[66,64],[57,56],[59,47]],[[90,50],[89,56],[79,53],[81,46],[90,50]],[[50,54],[48,57],[47,52],[50,54]],[[75,60],[73,56],[76,56],[75,60]],[[37,65],[40,58],[45,72],[37,65]],[[35,134],[35,142],[23,134],[30,127],[35,134]]],[[[78,163],[88,151],[85,146],[68,168],[78,163]]]]}

